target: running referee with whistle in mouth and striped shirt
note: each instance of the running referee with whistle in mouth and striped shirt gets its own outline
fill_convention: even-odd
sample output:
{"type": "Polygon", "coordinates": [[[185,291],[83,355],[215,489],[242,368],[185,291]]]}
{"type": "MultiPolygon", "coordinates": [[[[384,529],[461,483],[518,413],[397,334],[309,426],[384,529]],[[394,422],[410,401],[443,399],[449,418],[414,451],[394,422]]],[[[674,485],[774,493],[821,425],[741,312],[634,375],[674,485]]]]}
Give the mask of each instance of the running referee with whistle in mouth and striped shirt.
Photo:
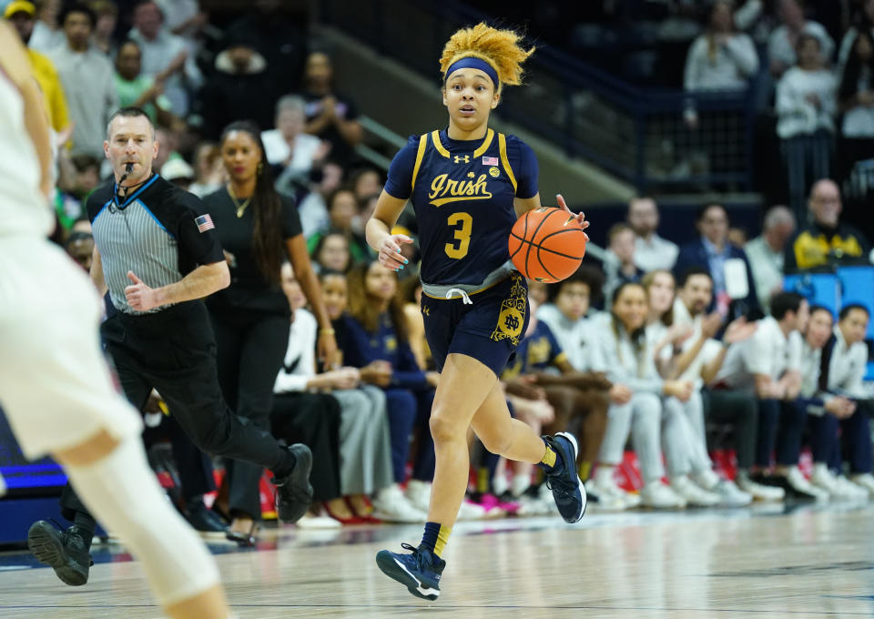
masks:
{"type": "MultiPolygon", "coordinates": [[[[152,173],[158,143],[143,110],[125,107],[110,117],[104,150],[116,182],[98,188],[86,203],[95,240],[91,279],[101,294],[108,289],[117,309],[101,334],[127,399],[141,410],[157,389],[201,450],[274,472],[279,518],[299,520],[312,498],[310,449],[280,446],[241,421],[221,396],[216,343],[200,300],[230,282],[212,219],[198,198],[152,173]]],[[[56,547],[78,563],[83,584],[88,563],[81,546],[89,549],[96,523],[69,485],[61,507],[74,526],[58,533],[63,544],[56,547]]],[[[28,540],[45,537],[49,526],[35,523],[28,540]]]]}

